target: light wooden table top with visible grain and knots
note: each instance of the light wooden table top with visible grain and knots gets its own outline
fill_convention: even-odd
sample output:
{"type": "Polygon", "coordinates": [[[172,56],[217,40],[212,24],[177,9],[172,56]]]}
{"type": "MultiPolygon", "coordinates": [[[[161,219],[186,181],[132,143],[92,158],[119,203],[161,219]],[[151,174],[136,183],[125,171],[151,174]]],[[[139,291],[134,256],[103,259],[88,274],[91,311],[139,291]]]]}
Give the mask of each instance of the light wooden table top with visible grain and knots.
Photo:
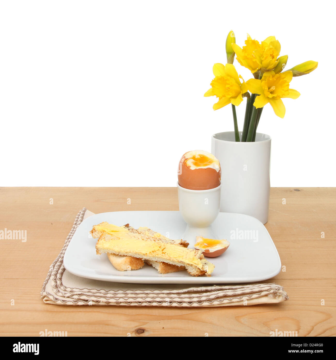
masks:
{"type": "Polygon", "coordinates": [[[266,228],[286,270],[272,281],[289,295],[289,301],[276,305],[44,304],[42,283],[83,207],[95,213],[178,210],[177,190],[0,188],[0,230],[27,230],[27,242],[0,240],[2,336],[39,336],[44,329],[64,330],[68,336],[270,336],[275,329],[297,331],[298,336],[336,335],[336,188],[271,189],[266,228]]]}

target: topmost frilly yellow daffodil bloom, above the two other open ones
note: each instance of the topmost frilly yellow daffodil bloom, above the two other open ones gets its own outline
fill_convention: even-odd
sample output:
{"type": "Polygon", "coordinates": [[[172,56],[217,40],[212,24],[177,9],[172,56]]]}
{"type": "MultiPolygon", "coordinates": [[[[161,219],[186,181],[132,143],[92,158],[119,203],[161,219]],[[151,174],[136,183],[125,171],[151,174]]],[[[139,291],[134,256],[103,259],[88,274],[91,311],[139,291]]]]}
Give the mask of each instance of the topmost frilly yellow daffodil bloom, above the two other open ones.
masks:
{"type": "Polygon", "coordinates": [[[247,35],[243,48],[240,48],[237,44],[231,46],[240,65],[248,68],[252,73],[260,69],[263,72],[273,70],[279,62],[278,56],[281,46],[275,36],[267,37],[260,44],[259,41],[252,40],[250,35],[247,35]]]}

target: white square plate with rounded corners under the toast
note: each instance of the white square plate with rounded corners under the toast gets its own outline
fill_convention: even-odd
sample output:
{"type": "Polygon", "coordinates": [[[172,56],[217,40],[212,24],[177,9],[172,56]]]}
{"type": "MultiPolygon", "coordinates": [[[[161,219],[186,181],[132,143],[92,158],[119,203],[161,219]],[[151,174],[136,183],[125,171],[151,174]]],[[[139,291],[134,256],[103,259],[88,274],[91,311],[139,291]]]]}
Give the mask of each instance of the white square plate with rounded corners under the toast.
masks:
{"type": "Polygon", "coordinates": [[[89,234],[92,226],[102,221],[118,226],[129,223],[136,229],[148,226],[171,239],[181,238],[186,227],[179,211],[119,211],[92,215],[78,226],[66,249],[63,262],[70,273],[120,283],[225,284],[266,280],[281,270],[280,257],[270,234],[252,216],[219,213],[213,230],[220,239],[229,240],[230,246],[221,256],[207,258],[215,265],[211,277],[195,277],[187,271],[159,274],[146,264],[139,270],[116,270],[106,254],[96,255],[96,239],[89,234]]]}

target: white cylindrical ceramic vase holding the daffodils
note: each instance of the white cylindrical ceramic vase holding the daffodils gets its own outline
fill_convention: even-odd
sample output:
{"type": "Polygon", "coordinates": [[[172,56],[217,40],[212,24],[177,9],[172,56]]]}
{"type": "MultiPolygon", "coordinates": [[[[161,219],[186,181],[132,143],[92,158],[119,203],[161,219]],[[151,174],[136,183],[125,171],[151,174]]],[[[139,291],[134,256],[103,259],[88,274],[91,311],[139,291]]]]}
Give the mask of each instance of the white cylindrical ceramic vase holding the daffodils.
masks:
{"type": "MultiPolygon", "coordinates": [[[[240,132],[241,138],[241,132],[240,132]]],[[[234,131],[212,135],[211,152],[219,160],[221,212],[235,212],[268,221],[271,137],[257,132],[256,141],[236,142],[234,131]]]]}

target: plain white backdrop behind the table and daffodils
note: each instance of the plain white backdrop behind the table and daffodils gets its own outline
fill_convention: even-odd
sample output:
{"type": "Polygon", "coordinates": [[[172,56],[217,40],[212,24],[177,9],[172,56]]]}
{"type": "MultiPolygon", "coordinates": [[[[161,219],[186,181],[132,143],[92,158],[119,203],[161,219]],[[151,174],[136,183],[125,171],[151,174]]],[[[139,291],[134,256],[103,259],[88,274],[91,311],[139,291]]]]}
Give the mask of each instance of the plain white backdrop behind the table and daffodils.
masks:
{"type": "Polygon", "coordinates": [[[272,136],[271,186],[335,186],[335,19],[318,4],[1,1],[0,185],[175,186],[183,153],[233,130],[231,107],[203,97],[232,29],[240,46],[275,35],[288,69],[319,62],[258,132],[272,136]]]}

